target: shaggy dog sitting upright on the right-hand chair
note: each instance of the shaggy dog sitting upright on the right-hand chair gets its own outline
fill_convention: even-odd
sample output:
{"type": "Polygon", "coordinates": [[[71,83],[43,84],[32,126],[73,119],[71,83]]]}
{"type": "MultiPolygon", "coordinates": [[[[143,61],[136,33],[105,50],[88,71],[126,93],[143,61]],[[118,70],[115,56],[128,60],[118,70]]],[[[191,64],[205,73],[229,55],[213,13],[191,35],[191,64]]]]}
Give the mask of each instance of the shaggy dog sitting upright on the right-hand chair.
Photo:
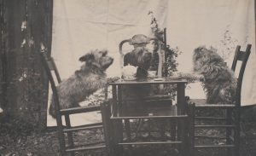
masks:
{"type": "Polygon", "coordinates": [[[194,50],[194,71],[203,76],[207,103],[228,104],[236,99],[236,78],[214,49],[199,47],[194,50]]]}

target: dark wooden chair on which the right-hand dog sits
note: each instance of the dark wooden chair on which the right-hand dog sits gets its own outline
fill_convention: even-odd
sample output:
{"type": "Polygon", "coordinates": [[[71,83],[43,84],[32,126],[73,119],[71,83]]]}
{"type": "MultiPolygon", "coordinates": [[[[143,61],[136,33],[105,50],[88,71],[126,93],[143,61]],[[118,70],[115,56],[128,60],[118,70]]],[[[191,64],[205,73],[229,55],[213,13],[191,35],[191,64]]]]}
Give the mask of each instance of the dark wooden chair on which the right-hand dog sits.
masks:
{"type": "MultiPolygon", "coordinates": [[[[231,149],[233,148],[233,153],[236,156],[239,156],[239,144],[240,144],[240,111],[241,111],[241,84],[242,78],[245,72],[247,65],[248,57],[251,53],[251,44],[247,45],[246,51],[241,51],[241,46],[236,47],[236,54],[232,63],[231,69],[236,71],[237,61],[241,61],[241,68],[237,78],[237,87],[236,87],[236,103],[232,104],[207,104],[206,100],[189,100],[189,104],[192,105],[189,110],[189,115],[191,116],[191,126],[189,130],[189,136],[191,137],[191,155],[195,154],[195,149],[198,148],[226,148],[226,155],[230,156],[231,149]],[[195,114],[195,110],[204,110],[209,109],[222,109],[225,110],[224,118],[217,117],[201,117],[195,114]],[[225,124],[195,124],[195,120],[210,120],[210,121],[224,121],[225,124]],[[200,136],[195,135],[195,129],[224,129],[226,136],[224,145],[195,145],[195,137],[210,137],[210,136],[200,136]]],[[[211,138],[218,139],[219,137],[211,136],[211,138]]]]}

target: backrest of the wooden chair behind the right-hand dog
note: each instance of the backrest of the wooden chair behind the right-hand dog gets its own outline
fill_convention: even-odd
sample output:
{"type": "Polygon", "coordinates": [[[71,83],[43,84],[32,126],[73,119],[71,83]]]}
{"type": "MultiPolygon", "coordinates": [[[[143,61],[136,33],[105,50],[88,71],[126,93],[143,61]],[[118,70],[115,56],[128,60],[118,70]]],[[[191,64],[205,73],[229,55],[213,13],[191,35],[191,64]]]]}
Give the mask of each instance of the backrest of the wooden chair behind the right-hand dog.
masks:
{"type": "Polygon", "coordinates": [[[238,74],[237,78],[237,87],[236,87],[236,107],[241,107],[241,84],[242,84],[242,78],[245,72],[245,68],[247,66],[247,60],[249,58],[249,55],[251,54],[251,48],[252,44],[247,44],[246,51],[241,51],[241,46],[236,47],[236,54],[234,56],[234,60],[232,63],[232,71],[236,71],[236,64],[237,61],[241,61],[241,68],[238,74]]]}

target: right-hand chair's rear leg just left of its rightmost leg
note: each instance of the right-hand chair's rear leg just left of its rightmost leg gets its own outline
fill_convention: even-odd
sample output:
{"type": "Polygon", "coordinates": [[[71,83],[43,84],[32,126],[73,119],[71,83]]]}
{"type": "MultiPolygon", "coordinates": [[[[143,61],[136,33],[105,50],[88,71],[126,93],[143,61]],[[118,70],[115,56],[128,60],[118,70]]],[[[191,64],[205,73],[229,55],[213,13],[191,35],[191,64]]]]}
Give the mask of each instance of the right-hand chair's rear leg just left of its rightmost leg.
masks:
{"type": "MultiPolygon", "coordinates": [[[[226,110],[226,124],[229,125],[231,124],[231,120],[232,120],[232,110],[230,109],[227,109],[226,110]]],[[[227,145],[230,145],[231,144],[231,140],[230,140],[230,137],[231,137],[231,129],[230,128],[226,128],[226,144],[227,145]]],[[[230,156],[231,155],[231,149],[230,148],[227,148],[226,149],[226,155],[227,156],[230,156]]]]}

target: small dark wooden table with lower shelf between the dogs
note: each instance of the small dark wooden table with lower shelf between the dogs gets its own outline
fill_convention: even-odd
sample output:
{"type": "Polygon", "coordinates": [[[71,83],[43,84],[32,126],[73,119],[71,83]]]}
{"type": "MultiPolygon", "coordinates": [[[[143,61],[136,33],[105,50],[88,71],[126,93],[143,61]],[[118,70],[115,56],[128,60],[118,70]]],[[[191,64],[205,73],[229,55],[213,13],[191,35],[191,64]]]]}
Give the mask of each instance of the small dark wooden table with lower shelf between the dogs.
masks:
{"type": "MultiPolygon", "coordinates": [[[[112,104],[112,116],[111,120],[113,122],[113,145],[115,153],[113,155],[119,155],[122,148],[120,146],[124,145],[145,145],[145,144],[179,144],[180,145],[180,153],[182,155],[187,155],[185,149],[186,145],[188,145],[188,114],[187,114],[187,102],[185,101],[185,84],[186,80],[163,80],[155,81],[154,79],[144,80],[144,81],[124,81],[119,80],[118,82],[110,83],[112,86],[113,93],[113,104],[112,104]],[[177,105],[164,105],[158,106],[154,105],[145,107],[142,110],[129,110],[123,106],[123,98],[122,98],[122,87],[123,86],[144,86],[150,84],[176,84],[177,85],[177,105]],[[177,121],[177,140],[174,141],[166,141],[166,142],[131,142],[131,136],[127,134],[128,139],[123,141],[123,120],[125,121],[125,129],[130,129],[130,119],[142,119],[148,118],[150,119],[170,119],[177,121]]],[[[142,97],[143,99],[143,97],[142,97]]]]}

